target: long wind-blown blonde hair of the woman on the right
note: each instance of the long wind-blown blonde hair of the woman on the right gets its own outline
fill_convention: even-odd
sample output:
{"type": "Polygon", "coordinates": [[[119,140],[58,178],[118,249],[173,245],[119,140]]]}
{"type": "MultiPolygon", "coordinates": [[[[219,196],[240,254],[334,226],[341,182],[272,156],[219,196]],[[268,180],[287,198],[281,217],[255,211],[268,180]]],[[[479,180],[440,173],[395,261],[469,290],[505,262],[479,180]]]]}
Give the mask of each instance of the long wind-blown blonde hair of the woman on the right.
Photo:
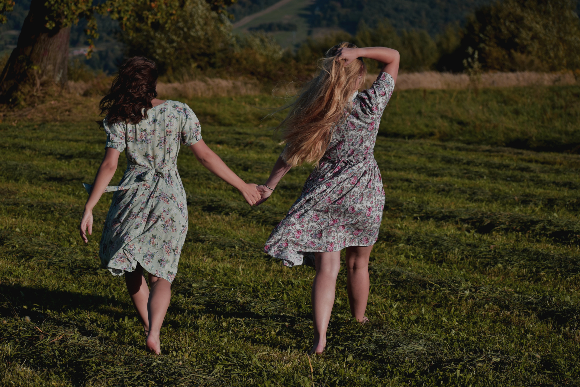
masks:
{"type": "MultiPolygon", "coordinates": [[[[333,46],[324,58],[318,60],[318,74],[299,92],[289,107],[287,117],[280,122],[282,144],[286,144],[282,158],[295,167],[304,162],[318,165],[331,142],[336,125],[352,109],[352,96],[362,73],[364,84],[367,68],[362,60],[343,66],[345,59],[337,56],[340,48],[356,48],[342,42],[333,46]]],[[[288,107],[288,106],[287,106],[288,107]]]]}

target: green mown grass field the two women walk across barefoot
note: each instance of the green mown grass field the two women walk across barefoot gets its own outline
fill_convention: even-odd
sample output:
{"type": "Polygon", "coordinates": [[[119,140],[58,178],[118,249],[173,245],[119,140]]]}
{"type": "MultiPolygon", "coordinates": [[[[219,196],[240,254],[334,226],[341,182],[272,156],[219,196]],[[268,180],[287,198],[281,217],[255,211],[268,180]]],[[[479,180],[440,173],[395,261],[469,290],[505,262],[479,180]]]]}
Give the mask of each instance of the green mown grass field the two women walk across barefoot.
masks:
{"type": "MultiPolygon", "coordinates": [[[[312,372],[314,271],[261,252],[309,168],[293,169],[251,208],[182,150],[190,231],[156,357],[144,352],[124,281],[96,258],[110,196],[95,209],[88,245],[76,229],[81,183],[103,155],[93,100],[39,107],[54,107],[49,118],[5,117],[0,385],[580,384],[579,93],[393,95],[375,147],[386,205],[371,255],[371,323],[350,317],[341,271],[327,352],[310,358],[312,372]]],[[[267,129],[276,121],[260,121],[255,106],[280,101],[187,102],[209,146],[262,183],[281,147],[267,129]]]]}

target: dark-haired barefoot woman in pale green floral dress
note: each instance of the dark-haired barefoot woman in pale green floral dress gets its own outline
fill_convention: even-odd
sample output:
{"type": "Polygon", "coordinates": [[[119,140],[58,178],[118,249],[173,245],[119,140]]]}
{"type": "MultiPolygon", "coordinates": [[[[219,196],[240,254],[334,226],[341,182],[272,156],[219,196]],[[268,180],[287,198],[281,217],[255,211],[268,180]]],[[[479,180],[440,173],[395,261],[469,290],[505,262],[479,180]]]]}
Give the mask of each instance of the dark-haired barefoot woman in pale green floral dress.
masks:
{"type": "Polygon", "coordinates": [[[105,156],[92,186],[79,230],[88,242],[93,208],[105,192],[114,191],[103,228],[99,256],[125,283],[143,322],[147,349],[161,353],[160,330],[171,299],[171,283],[185,241],[186,194],[177,172],[180,146],[216,176],[237,188],[250,205],[260,194],[213,153],[201,138],[200,121],[182,102],[157,99],[157,68],[142,56],[125,60],[110,92],[100,103],[107,133],[105,156]],[[107,186],[126,150],[127,169],[118,186],[107,186]],[[151,291],[143,276],[147,270],[151,291]]]}

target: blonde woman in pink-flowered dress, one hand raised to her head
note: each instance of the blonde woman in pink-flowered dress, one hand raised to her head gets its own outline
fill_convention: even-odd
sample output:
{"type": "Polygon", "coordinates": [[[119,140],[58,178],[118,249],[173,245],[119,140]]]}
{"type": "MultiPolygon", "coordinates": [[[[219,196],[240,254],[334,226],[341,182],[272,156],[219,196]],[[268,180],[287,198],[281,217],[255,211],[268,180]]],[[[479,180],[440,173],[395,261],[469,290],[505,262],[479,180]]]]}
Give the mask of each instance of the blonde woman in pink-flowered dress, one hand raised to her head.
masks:
{"type": "Polygon", "coordinates": [[[390,48],[357,48],[342,42],[329,49],[318,65],[320,72],[303,88],[279,126],[286,147],[270,178],[258,186],[260,204],[290,168],[316,164],[302,194],[264,246],[267,254],[286,266],[306,260],[316,267],[310,353],[322,353],[326,346],[343,248],[350,311],[361,323],[368,321],[368,260],[385,205],[373,150],[380,117],[397,79],[399,54],[390,48]],[[358,93],[367,73],[362,57],[385,66],[371,88],[358,93]]]}

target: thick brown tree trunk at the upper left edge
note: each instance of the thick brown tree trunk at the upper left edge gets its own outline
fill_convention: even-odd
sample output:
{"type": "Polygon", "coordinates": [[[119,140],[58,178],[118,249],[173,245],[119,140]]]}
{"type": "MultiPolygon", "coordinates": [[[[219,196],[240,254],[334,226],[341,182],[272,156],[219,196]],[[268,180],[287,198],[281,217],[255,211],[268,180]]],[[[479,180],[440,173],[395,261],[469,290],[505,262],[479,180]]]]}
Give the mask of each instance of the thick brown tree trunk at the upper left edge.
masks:
{"type": "Polygon", "coordinates": [[[44,86],[63,88],[67,82],[70,27],[45,27],[50,9],[32,0],[18,44],[0,75],[0,103],[18,103],[39,95],[44,86]]]}

